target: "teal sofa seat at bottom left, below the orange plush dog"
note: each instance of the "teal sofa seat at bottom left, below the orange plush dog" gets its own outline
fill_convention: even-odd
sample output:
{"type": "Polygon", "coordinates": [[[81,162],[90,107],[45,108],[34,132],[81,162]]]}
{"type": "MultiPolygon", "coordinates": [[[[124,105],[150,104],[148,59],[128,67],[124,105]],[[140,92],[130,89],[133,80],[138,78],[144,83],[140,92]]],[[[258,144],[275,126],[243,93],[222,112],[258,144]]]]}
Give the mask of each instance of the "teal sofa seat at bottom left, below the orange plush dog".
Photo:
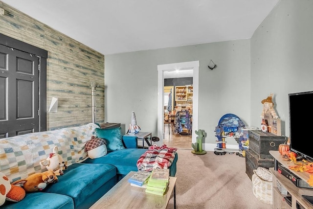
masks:
{"type": "MultiPolygon", "coordinates": [[[[57,183],[58,184],[58,183],[57,183]]],[[[45,192],[26,193],[24,199],[14,203],[6,201],[1,209],[74,209],[73,199],[62,194],[45,192]]]]}

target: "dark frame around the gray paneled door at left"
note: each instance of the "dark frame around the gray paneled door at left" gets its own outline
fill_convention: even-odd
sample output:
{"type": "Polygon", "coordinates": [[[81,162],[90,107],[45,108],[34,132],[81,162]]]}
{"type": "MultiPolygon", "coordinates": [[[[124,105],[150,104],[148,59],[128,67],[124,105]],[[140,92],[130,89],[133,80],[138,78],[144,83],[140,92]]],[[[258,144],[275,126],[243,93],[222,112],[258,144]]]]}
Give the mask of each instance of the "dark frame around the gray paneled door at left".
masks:
{"type": "Polygon", "coordinates": [[[39,131],[46,131],[47,121],[46,121],[46,66],[48,51],[39,48],[37,46],[32,46],[25,42],[19,41],[17,39],[11,38],[0,33],[0,45],[8,46],[14,49],[18,49],[23,52],[34,54],[40,57],[40,71],[39,71],[39,131]]]}

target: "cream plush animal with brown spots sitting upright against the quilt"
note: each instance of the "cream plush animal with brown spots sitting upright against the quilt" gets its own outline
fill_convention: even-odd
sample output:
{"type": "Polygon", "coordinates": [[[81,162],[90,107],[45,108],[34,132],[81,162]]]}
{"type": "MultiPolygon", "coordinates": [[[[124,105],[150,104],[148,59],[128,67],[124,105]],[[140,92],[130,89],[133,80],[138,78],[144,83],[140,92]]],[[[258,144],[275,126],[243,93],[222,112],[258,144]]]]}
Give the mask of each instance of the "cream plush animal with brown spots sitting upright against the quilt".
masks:
{"type": "Polygon", "coordinates": [[[62,156],[58,154],[57,146],[53,148],[53,153],[50,153],[49,157],[45,161],[41,161],[40,164],[45,166],[47,170],[52,170],[57,176],[63,175],[63,170],[67,169],[62,156]]]}

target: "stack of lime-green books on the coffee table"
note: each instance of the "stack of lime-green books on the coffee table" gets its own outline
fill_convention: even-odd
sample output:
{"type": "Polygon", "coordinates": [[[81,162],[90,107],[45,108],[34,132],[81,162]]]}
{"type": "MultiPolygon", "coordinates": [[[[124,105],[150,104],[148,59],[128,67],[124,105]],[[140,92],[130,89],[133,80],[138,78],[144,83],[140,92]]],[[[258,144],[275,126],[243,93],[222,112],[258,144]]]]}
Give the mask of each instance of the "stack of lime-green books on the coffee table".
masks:
{"type": "Polygon", "coordinates": [[[169,169],[155,168],[147,183],[146,192],[163,196],[168,188],[170,173],[169,169]]]}

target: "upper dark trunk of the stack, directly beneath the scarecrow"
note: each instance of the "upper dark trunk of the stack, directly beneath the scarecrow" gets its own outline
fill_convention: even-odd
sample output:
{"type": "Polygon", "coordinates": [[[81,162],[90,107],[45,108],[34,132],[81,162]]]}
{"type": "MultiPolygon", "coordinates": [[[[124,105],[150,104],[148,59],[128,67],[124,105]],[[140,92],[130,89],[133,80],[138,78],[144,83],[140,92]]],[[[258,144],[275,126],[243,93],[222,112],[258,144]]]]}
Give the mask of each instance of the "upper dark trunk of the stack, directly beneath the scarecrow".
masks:
{"type": "Polygon", "coordinates": [[[285,136],[276,136],[261,130],[249,130],[249,150],[260,159],[272,159],[269,150],[278,150],[279,144],[285,141],[285,136]]]}

